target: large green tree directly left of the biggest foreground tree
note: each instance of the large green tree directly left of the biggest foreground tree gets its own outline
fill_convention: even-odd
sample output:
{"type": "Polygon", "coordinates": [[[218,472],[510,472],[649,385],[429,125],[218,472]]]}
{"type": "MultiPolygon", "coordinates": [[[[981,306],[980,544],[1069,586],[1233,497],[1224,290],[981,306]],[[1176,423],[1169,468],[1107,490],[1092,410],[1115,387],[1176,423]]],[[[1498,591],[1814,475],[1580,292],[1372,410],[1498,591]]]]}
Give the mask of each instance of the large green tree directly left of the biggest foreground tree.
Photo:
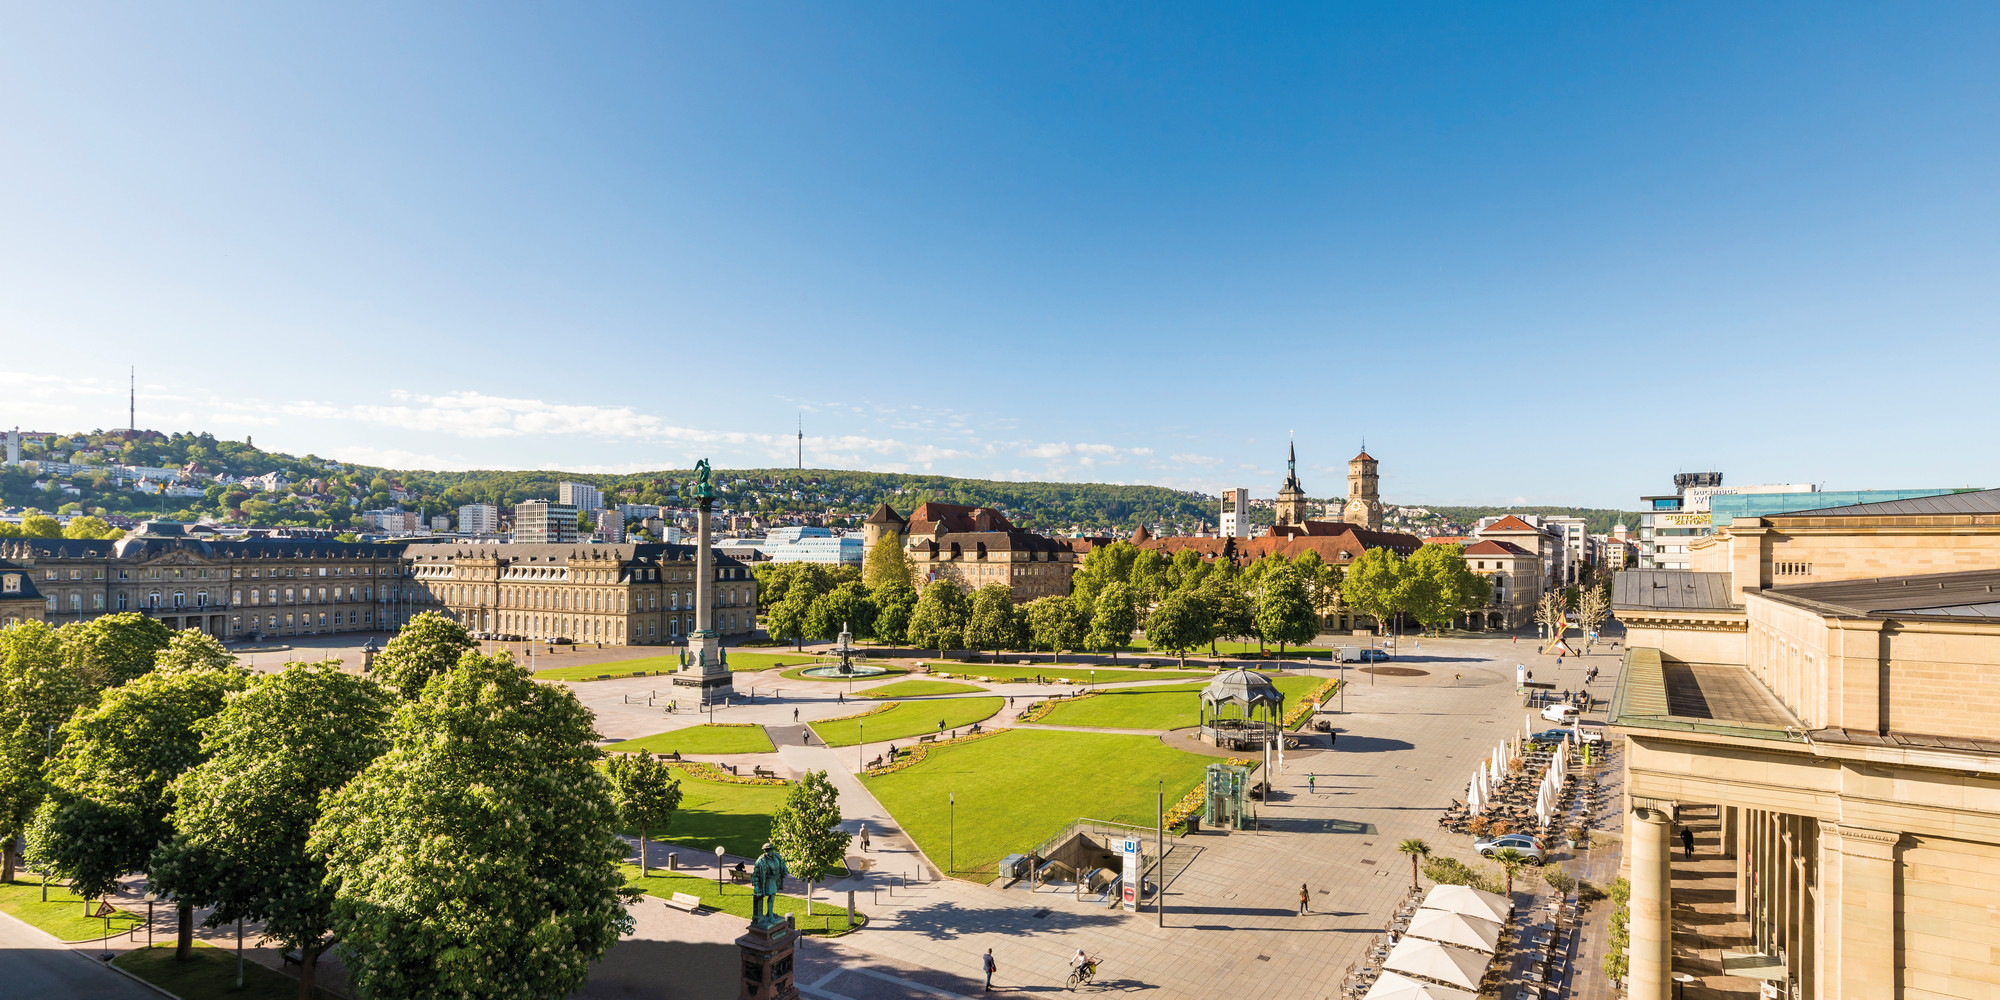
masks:
{"type": "Polygon", "coordinates": [[[340,660],[266,674],[202,724],[208,760],[174,780],[174,838],[152,856],[160,892],[208,906],[208,926],[258,920],[298,948],[310,1000],[338,882],[306,838],[324,796],[388,748],[396,694],[340,660]]]}

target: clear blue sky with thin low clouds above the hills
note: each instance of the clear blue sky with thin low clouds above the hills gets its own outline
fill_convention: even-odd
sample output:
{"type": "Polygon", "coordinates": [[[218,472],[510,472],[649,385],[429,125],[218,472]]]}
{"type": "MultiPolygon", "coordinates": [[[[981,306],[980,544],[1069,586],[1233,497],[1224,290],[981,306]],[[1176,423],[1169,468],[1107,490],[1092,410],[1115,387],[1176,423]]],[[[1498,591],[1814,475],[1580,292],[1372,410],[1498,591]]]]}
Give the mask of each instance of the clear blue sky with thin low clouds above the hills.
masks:
{"type": "Polygon", "coordinates": [[[0,424],[2000,484],[1992,4],[6,4],[0,424]]]}

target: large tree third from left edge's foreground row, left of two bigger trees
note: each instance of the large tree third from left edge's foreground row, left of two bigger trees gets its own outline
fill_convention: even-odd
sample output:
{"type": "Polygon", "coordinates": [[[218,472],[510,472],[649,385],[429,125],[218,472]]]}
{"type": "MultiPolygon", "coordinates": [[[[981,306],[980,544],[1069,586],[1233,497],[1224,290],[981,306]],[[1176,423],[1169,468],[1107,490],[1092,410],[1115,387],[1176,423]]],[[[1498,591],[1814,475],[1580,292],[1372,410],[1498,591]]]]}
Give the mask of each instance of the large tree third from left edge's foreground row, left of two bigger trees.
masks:
{"type": "MultiPolygon", "coordinates": [[[[172,786],[204,758],[200,724],[244,690],[240,668],[142,674],[110,688],[62,724],[44,766],[48,794],[28,830],[28,860],[78,896],[104,896],[126,872],[150,868],[172,834],[172,786]]],[[[192,906],[180,900],[180,950],[192,948],[192,906]]]]}

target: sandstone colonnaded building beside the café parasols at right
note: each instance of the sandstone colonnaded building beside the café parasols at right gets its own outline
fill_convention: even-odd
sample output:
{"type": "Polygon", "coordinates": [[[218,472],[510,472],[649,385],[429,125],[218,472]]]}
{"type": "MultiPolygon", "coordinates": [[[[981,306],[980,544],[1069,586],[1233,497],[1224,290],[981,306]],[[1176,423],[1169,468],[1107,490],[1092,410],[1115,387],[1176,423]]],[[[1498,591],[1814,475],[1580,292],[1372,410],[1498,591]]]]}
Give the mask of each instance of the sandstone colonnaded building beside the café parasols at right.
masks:
{"type": "Polygon", "coordinates": [[[1738,516],[1688,556],[1612,592],[1630,994],[2000,996],[2000,490],[1738,516]],[[1676,828],[1734,880],[1676,878],[1676,828]]]}

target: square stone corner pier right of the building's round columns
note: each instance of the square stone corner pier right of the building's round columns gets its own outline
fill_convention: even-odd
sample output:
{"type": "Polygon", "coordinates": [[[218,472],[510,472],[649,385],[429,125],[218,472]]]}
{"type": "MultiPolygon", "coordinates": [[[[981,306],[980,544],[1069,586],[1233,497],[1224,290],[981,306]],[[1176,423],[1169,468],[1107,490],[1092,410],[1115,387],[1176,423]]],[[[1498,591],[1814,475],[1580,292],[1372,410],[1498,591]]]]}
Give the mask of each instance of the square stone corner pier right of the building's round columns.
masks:
{"type": "Polygon", "coordinates": [[[1896,844],[1902,834],[1826,826],[1836,840],[1828,860],[1840,872],[1826,882],[1840,884],[1840,912],[1828,914],[1828,948],[1838,968],[1824,970],[1820,982],[1834,996],[1896,996],[1896,844]],[[1838,920],[1838,930],[1834,922],[1838,920]]]}

